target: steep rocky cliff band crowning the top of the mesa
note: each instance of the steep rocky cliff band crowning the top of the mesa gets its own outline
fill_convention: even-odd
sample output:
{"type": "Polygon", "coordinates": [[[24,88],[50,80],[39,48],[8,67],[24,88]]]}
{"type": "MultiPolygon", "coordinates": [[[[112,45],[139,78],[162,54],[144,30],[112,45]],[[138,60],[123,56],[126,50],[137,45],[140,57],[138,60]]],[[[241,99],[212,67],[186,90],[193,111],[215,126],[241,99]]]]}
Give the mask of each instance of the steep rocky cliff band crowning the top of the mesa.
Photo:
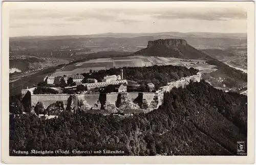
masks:
{"type": "Polygon", "coordinates": [[[153,45],[165,45],[167,47],[172,46],[180,46],[180,45],[186,45],[187,41],[184,39],[158,39],[155,41],[148,41],[147,48],[150,48],[153,45]]]}

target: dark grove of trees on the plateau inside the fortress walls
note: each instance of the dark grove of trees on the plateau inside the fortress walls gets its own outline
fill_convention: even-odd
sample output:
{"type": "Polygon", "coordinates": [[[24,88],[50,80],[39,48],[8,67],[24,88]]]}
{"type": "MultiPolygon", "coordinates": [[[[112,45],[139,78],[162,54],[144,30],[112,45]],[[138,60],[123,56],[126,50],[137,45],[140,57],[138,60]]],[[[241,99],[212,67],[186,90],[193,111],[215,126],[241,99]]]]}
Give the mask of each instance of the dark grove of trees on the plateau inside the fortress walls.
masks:
{"type": "MultiPolygon", "coordinates": [[[[155,84],[155,88],[167,85],[168,82],[179,80],[182,77],[196,75],[198,69],[190,67],[189,69],[184,66],[173,65],[154,65],[149,67],[123,67],[124,79],[133,80],[139,84],[146,86],[147,83],[155,84]]],[[[106,75],[120,75],[120,68],[111,68],[108,70],[99,70],[95,73],[84,73],[83,82],[86,82],[88,78],[96,79],[99,82],[102,81],[106,75]]]]}

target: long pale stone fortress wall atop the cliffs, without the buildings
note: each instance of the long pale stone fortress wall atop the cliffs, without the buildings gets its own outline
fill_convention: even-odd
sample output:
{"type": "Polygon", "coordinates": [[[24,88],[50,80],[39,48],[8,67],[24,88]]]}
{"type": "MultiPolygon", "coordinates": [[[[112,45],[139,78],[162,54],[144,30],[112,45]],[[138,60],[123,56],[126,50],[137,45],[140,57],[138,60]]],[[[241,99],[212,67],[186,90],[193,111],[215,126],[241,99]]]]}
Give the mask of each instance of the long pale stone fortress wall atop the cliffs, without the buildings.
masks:
{"type": "MultiPolygon", "coordinates": [[[[33,95],[34,88],[24,89],[22,95],[25,96],[27,91],[31,92],[31,104],[35,106],[37,102],[43,102],[45,108],[49,105],[55,103],[56,101],[62,101],[64,108],[67,107],[68,99],[73,96],[79,103],[82,102],[82,105],[86,105],[87,109],[95,108],[97,104],[99,107],[103,105],[108,110],[108,107],[111,107],[111,112],[117,111],[120,109],[133,109],[130,112],[140,112],[141,109],[146,109],[144,112],[157,109],[160,105],[163,104],[163,95],[164,92],[169,92],[174,87],[185,87],[189,82],[200,82],[201,74],[181,78],[178,81],[170,82],[166,86],[162,86],[160,90],[156,92],[124,92],[124,93],[82,93],[78,95],[33,95]],[[111,106],[108,106],[111,105],[111,106]],[[138,108],[139,105],[139,108],[138,108]],[[132,107],[132,108],[131,108],[132,107]],[[113,110],[113,108],[115,110],[113,110]]],[[[74,104],[79,106],[79,104],[74,104]]],[[[76,107],[78,108],[78,107],[76,107]]]]}

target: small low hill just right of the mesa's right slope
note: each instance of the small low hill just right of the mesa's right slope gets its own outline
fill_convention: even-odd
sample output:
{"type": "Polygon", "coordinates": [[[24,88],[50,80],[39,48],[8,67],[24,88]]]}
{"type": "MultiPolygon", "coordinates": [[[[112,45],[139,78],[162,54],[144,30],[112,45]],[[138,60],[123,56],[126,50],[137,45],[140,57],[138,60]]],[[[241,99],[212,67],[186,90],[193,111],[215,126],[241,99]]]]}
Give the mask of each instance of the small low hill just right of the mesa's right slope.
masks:
{"type": "Polygon", "coordinates": [[[223,51],[223,50],[219,50],[219,49],[205,49],[205,50],[200,50],[201,52],[207,54],[208,56],[218,59],[218,60],[222,60],[225,57],[234,57],[236,55],[223,51]]]}

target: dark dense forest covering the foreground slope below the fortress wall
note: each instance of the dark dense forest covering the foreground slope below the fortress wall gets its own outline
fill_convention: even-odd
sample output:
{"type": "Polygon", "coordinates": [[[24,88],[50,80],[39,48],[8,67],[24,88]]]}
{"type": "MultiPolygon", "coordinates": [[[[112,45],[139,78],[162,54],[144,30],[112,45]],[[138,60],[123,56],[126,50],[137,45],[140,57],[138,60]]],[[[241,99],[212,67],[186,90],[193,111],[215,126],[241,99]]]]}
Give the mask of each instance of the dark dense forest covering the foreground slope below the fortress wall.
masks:
{"type": "Polygon", "coordinates": [[[64,111],[50,120],[10,115],[10,155],[31,149],[124,151],[84,156],[236,155],[237,141],[247,139],[246,103],[246,96],[201,81],[165,93],[157,110],[125,118],[81,111],[64,111]]]}

